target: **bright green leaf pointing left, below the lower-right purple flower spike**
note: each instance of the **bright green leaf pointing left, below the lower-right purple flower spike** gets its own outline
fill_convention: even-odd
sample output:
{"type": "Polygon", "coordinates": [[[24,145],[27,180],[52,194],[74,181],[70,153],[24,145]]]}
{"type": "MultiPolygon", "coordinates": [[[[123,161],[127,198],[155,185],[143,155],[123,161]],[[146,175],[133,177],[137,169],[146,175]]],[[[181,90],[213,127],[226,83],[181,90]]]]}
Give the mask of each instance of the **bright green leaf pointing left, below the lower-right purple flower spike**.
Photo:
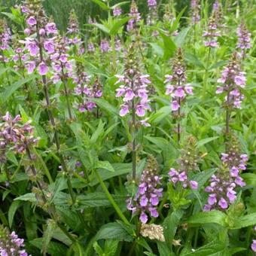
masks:
{"type": "Polygon", "coordinates": [[[210,211],[210,212],[199,212],[194,216],[188,218],[187,223],[190,224],[206,224],[206,223],[216,223],[221,226],[227,226],[227,215],[220,211],[210,211]]]}

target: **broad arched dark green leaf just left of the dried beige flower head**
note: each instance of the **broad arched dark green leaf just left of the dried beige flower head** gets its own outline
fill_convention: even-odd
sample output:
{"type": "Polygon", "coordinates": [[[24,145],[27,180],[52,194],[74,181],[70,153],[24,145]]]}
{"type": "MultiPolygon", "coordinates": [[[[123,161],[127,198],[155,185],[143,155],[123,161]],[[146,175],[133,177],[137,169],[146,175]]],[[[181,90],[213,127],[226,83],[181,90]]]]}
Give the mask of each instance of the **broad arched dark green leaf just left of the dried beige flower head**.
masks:
{"type": "Polygon", "coordinates": [[[96,240],[99,239],[117,239],[118,241],[132,242],[133,236],[120,223],[111,222],[100,228],[96,234],[96,240]]]}

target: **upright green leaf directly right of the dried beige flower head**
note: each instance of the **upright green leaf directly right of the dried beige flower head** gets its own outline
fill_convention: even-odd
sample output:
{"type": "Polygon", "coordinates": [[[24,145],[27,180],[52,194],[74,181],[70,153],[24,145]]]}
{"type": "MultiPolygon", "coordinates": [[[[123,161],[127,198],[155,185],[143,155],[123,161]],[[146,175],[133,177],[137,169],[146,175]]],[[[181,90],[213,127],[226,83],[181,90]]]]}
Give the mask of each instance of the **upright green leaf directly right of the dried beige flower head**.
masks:
{"type": "Polygon", "coordinates": [[[163,234],[166,240],[166,245],[172,248],[172,239],[174,239],[179,221],[184,212],[180,209],[174,210],[171,215],[168,215],[163,221],[163,234]]]}

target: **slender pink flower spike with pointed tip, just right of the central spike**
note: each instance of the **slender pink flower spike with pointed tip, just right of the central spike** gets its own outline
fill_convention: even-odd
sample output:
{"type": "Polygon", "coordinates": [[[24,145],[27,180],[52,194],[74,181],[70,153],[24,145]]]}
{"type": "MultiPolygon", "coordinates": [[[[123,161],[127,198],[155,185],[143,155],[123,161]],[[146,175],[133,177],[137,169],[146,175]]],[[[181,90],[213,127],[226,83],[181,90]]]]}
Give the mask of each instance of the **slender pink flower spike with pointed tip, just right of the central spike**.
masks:
{"type": "Polygon", "coordinates": [[[186,68],[180,48],[172,63],[172,75],[166,75],[166,95],[172,96],[172,111],[177,111],[181,107],[181,101],[187,95],[193,95],[193,90],[190,84],[186,84],[186,68]]]}

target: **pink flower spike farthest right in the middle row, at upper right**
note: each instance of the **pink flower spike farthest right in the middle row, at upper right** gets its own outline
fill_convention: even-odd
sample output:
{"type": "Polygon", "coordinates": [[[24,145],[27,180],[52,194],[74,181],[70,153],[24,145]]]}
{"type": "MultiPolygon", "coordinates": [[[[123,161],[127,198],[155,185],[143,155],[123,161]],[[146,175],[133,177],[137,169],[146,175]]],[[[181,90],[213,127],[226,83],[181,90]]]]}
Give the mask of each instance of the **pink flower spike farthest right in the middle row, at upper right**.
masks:
{"type": "Polygon", "coordinates": [[[227,93],[225,103],[227,108],[232,106],[235,108],[241,108],[241,102],[244,96],[241,93],[241,88],[245,87],[245,72],[241,71],[240,59],[237,53],[233,53],[229,64],[224,68],[221,78],[218,79],[218,83],[222,86],[218,86],[216,93],[227,93]]]}

